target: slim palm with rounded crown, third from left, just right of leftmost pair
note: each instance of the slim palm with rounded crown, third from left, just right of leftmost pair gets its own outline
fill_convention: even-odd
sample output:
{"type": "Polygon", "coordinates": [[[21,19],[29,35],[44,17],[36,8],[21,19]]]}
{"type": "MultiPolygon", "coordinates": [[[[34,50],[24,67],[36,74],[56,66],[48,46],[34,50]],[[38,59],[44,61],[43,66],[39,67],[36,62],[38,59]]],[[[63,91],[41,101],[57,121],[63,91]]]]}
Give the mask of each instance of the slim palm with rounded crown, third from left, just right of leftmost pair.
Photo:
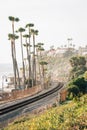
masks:
{"type": "Polygon", "coordinates": [[[20,41],[21,41],[21,54],[22,54],[22,66],[23,66],[23,83],[25,88],[25,66],[24,66],[24,56],[23,56],[23,44],[22,44],[22,33],[25,31],[24,28],[20,27],[18,32],[20,32],[20,41]]]}

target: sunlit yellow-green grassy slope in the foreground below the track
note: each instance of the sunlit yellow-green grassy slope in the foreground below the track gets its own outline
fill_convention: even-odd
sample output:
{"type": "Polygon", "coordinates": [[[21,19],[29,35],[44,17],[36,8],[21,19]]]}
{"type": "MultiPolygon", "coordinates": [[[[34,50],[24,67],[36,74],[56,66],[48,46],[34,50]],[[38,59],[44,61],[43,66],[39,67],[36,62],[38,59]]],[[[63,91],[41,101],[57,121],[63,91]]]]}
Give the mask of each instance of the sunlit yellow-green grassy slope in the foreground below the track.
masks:
{"type": "Polygon", "coordinates": [[[5,130],[87,130],[87,95],[33,118],[16,120],[5,130]]]}

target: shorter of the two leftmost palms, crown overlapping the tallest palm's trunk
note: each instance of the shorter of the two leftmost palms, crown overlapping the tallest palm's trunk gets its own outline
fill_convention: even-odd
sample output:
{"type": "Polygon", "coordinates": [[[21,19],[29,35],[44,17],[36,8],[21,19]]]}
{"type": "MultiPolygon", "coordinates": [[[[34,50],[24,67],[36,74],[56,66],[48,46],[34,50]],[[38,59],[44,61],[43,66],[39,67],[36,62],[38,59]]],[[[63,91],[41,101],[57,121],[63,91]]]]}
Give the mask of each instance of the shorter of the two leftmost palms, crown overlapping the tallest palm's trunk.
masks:
{"type": "MultiPolygon", "coordinates": [[[[18,38],[18,36],[14,34],[8,34],[9,40],[11,40],[11,52],[12,52],[12,61],[13,61],[13,71],[14,71],[14,86],[15,89],[17,87],[17,82],[16,82],[16,68],[15,68],[15,57],[14,57],[14,40],[18,38]]],[[[20,82],[19,82],[20,85],[20,82]]]]}

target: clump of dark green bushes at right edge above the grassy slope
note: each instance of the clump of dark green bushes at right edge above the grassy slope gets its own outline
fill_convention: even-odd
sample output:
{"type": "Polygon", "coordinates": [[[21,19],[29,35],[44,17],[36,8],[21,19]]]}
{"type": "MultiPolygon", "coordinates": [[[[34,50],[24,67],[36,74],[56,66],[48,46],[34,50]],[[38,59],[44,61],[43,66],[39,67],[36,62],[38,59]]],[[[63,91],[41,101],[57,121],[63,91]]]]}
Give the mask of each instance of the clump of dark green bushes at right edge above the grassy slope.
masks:
{"type": "Polygon", "coordinates": [[[72,70],[70,72],[70,81],[68,83],[68,96],[73,98],[87,93],[87,67],[85,57],[72,57],[70,59],[72,70]]]}

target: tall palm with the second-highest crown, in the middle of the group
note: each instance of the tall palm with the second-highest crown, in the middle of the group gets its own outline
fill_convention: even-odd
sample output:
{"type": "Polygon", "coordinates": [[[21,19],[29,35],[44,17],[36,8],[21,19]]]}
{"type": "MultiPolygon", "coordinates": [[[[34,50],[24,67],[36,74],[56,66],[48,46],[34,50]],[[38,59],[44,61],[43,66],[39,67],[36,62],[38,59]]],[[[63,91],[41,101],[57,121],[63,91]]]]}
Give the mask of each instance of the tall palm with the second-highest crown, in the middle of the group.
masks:
{"type": "Polygon", "coordinates": [[[29,79],[31,79],[31,27],[33,27],[33,23],[26,24],[26,28],[28,28],[28,34],[29,34],[29,79]]]}

